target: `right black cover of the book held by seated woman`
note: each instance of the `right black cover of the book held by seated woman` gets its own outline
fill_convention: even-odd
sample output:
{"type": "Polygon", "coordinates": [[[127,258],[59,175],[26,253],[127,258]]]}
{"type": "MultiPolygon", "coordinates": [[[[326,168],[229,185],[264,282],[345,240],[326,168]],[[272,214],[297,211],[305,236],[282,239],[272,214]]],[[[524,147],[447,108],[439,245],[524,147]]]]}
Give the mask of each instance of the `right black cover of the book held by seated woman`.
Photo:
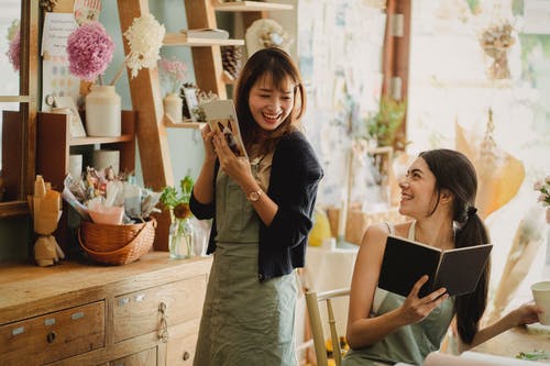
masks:
{"type": "Polygon", "coordinates": [[[444,287],[449,296],[475,290],[492,248],[485,244],[443,252],[433,288],[444,287]]]}

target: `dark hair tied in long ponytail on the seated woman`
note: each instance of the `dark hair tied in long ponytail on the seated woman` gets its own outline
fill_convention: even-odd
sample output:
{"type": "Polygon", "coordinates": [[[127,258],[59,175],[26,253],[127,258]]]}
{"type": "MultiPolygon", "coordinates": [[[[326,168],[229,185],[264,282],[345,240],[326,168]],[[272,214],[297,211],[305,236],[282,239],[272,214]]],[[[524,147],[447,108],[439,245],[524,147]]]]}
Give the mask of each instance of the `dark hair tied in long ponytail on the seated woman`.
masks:
{"type": "MultiPolygon", "coordinates": [[[[438,197],[442,189],[451,191],[454,196],[453,221],[458,226],[454,239],[455,247],[488,243],[487,230],[475,209],[477,177],[472,163],[463,154],[446,148],[424,152],[419,156],[436,176],[438,197]]],[[[490,273],[491,259],[475,290],[454,299],[459,335],[465,343],[472,343],[487,307],[490,273]]]]}

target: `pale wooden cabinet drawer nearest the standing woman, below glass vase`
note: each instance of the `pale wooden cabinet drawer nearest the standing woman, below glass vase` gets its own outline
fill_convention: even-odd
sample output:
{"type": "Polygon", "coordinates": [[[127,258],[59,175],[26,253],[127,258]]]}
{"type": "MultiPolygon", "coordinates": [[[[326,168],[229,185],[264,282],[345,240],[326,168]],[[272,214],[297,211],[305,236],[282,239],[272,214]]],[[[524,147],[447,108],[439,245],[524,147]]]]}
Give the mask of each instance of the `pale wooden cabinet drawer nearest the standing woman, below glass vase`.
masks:
{"type": "Polygon", "coordinates": [[[200,318],[207,276],[197,276],[114,298],[114,342],[200,318]]]}

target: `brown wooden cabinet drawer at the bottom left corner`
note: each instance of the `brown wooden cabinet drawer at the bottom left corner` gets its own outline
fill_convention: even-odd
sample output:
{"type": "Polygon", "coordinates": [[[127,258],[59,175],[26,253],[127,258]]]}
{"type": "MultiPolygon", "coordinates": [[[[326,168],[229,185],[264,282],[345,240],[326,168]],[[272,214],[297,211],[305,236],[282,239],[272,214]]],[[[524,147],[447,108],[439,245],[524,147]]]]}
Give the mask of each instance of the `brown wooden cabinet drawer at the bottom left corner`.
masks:
{"type": "Polygon", "coordinates": [[[0,326],[0,365],[47,364],[103,346],[105,301],[0,326]]]}

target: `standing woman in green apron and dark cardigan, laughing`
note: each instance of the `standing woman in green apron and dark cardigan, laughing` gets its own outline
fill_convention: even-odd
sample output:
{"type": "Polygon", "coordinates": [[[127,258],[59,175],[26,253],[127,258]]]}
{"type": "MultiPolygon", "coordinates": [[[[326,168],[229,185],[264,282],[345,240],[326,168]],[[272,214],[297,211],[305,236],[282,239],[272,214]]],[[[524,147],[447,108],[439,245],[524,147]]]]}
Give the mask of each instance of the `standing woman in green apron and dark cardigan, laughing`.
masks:
{"type": "Polygon", "coordinates": [[[194,365],[297,364],[294,314],[321,166],[299,130],[306,107],[290,57],[264,48],[244,65],[235,110],[250,160],[202,130],[190,208],[213,219],[213,253],[194,365]]]}

